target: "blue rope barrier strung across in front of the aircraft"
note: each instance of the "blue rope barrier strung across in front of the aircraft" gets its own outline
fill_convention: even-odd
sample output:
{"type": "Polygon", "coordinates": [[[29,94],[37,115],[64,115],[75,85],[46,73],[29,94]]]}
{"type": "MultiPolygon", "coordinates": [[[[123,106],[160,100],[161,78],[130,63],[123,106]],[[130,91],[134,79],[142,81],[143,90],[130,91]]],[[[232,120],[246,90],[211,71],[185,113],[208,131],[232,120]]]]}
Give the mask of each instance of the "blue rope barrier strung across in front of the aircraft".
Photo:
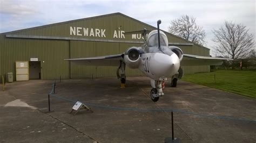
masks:
{"type": "MultiPolygon", "coordinates": [[[[69,102],[73,102],[73,103],[77,102],[77,101],[74,101],[74,100],[71,100],[68,98],[64,98],[64,97],[60,97],[56,94],[53,94],[53,91],[55,91],[55,85],[56,85],[56,83],[53,83],[53,88],[49,95],[56,97],[56,98],[63,99],[65,101],[69,101],[69,102]]],[[[128,111],[140,111],[140,112],[164,112],[164,111],[172,112],[173,111],[173,112],[179,112],[179,113],[184,113],[184,114],[188,114],[188,115],[217,118],[217,119],[226,119],[226,120],[250,121],[250,122],[256,123],[256,120],[250,120],[250,119],[244,119],[244,118],[228,118],[228,117],[213,116],[213,115],[203,115],[200,113],[181,111],[181,110],[177,110],[177,109],[138,109],[138,108],[120,108],[120,107],[105,106],[105,105],[98,105],[98,104],[92,104],[92,103],[83,103],[83,104],[89,105],[89,106],[95,106],[96,108],[104,108],[104,109],[112,109],[112,110],[128,110],[128,111]]]]}

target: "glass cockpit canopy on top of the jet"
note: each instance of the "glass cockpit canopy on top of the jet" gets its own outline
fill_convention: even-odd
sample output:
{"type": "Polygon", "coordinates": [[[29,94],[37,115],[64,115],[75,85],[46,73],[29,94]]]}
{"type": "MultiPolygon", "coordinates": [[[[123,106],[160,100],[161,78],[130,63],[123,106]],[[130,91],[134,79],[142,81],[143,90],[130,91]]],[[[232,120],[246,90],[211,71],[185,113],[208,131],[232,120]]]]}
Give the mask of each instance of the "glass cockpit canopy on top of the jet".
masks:
{"type": "MultiPolygon", "coordinates": [[[[159,31],[160,45],[168,46],[168,39],[163,31],[159,31]]],[[[153,30],[147,35],[147,46],[153,47],[158,46],[158,35],[157,30],[153,30]]]]}

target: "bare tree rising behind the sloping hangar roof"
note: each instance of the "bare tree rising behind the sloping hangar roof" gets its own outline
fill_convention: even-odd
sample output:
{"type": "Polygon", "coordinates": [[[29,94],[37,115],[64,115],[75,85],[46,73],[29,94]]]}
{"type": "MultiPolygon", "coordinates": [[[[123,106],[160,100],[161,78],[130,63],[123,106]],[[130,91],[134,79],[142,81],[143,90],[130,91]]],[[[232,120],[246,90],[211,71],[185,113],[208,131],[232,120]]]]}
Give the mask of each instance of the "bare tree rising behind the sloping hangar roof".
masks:
{"type": "Polygon", "coordinates": [[[192,16],[183,15],[181,18],[172,20],[169,32],[197,44],[205,44],[205,31],[203,27],[196,24],[196,18],[192,16]]]}

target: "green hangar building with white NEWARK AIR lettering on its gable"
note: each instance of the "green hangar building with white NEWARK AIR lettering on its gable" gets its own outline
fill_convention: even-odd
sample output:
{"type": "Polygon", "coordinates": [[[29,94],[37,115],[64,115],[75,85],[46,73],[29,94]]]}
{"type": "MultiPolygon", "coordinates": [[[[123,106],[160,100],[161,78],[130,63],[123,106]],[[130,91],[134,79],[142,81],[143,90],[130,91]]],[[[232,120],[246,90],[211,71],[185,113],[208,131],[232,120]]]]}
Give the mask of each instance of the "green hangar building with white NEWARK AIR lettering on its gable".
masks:
{"type": "MultiPolygon", "coordinates": [[[[26,28],[0,34],[0,75],[11,72],[14,81],[19,72],[29,79],[115,77],[117,67],[73,65],[64,59],[85,58],[124,53],[132,46],[141,46],[141,34],[124,32],[156,27],[123,15],[112,13],[68,22],[26,28]],[[28,66],[28,71],[25,67],[28,66]],[[24,73],[25,72],[25,73],[24,73]]],[[[209,56],[210,49],[165,32],[169,44],[186,54],[209,56]]],[[[209,66],[183,67],[184,73],[210,71],[209,66]]],[[[126,68],[126,76],[143,76],[137,69],[126,68]]]]}

